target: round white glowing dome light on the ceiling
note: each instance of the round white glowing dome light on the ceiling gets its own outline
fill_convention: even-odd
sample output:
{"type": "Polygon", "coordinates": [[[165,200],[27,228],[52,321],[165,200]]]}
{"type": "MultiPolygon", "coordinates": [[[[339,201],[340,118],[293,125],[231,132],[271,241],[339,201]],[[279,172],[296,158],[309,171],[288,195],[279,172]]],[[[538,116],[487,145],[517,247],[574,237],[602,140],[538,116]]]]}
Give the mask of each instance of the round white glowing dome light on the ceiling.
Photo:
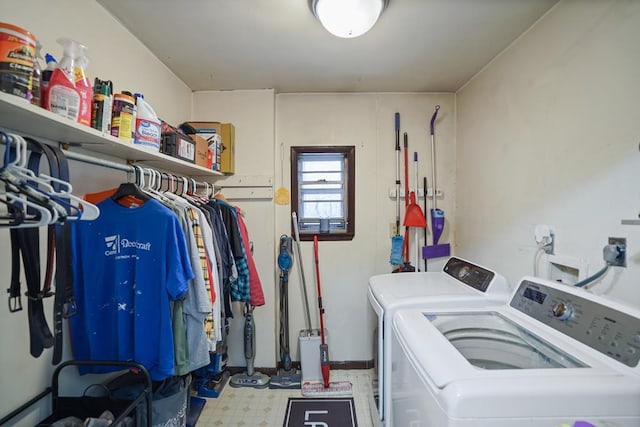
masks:
{"type": "Polygon", "coordinates": [[[350,39],[369,31],[389,0],[309,0],[322,26],[337,37],[350,39]]]}

